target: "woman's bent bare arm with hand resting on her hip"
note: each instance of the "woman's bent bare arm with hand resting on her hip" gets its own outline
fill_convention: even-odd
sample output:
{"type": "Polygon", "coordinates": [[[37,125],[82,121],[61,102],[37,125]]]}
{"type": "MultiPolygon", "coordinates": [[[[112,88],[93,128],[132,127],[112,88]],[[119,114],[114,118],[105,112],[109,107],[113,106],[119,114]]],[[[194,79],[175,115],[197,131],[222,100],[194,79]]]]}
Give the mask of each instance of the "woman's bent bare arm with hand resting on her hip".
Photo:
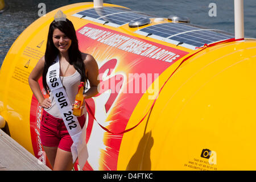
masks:
{"type": "Polygon", "coordinates": [[[42,91],[40,89],[40,85],[38,83],[39,78],[43,75],[44,70],[44,56],[38,61],[35,68],[30,73],[28,77],[28,84],[30,84],[30,88],[34,93],[34,96],[38,100],[39,104],[43,108],[48,108],[51,106],[51,100],[49,98],[44,98],[42,91]]]}

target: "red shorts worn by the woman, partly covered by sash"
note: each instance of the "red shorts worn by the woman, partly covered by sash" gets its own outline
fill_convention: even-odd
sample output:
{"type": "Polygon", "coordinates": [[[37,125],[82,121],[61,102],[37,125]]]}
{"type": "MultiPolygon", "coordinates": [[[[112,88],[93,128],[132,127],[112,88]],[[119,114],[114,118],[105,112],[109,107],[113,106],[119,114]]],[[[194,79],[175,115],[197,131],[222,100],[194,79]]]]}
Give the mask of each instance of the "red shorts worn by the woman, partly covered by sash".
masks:
{"type": "MultiPolygon", "coordinates": [[[[77,117],[80,126],[85,124],[84,115],[77,117]]],[[[43,117],[40,126],[40,139],[43,146],[59,147],[64,151],[71,152],[73,140],[63,122],[63,119],[55,118],[43,110],[43,117]]]]}

